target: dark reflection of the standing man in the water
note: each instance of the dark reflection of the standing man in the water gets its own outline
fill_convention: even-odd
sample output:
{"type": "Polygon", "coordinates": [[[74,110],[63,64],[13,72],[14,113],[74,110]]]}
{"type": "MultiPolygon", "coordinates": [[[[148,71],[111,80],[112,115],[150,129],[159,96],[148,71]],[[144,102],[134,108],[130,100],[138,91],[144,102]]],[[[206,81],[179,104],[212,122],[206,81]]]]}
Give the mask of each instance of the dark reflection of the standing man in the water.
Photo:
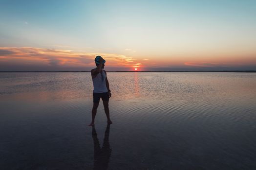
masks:
{"type": "Polygon", "coordinates": [[[102,148],[100,147],[100,142],[97,137],[95,126],[92,126],[92,138],[94,144],[94,164],[93,170],[107,170],[108,162],[111,154],[111,148],[108,142],[110,124],[107,124],[105,131],[104,142],[102,148]]]}

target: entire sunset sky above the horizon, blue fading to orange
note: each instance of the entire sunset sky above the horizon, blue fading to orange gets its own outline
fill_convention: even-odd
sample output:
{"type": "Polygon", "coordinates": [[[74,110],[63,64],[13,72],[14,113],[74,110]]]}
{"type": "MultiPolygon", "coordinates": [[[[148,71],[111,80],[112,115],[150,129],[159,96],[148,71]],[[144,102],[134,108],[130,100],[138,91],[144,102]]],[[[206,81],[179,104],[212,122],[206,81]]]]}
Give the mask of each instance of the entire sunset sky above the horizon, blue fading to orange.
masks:
{"type": "Polygon", "coordinates": [[[0,0],[0,71],[256,70],[256,0],[0,0]]]}

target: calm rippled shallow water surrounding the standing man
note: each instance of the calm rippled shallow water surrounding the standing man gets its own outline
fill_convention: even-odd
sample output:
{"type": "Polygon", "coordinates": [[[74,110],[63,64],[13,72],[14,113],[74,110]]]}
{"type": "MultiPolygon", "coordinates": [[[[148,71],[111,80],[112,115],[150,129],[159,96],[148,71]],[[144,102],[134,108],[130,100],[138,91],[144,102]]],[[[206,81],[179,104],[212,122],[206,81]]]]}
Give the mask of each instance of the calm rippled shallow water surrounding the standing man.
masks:
{"type": "Polygon", "coordinates": [[[256,169],[256,73],[0,73],[0,169],[256,169]],[[96,136],[97,133],[97,136],[96,136]]]}

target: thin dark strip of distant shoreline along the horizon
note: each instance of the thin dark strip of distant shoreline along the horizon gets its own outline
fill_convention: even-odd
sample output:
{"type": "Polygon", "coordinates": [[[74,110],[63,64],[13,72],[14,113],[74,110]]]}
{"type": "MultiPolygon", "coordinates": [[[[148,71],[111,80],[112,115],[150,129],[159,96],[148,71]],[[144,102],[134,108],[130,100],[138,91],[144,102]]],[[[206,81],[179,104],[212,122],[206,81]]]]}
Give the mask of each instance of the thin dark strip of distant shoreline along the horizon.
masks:
{"type": "MultiPolygon", "coordinates": [[[[90,71],[0,71],[0,72],[90,72],[90,71]]],[[[256,70],[235,71],[107,71],[107,72],[256,72],[256,70]]]]}

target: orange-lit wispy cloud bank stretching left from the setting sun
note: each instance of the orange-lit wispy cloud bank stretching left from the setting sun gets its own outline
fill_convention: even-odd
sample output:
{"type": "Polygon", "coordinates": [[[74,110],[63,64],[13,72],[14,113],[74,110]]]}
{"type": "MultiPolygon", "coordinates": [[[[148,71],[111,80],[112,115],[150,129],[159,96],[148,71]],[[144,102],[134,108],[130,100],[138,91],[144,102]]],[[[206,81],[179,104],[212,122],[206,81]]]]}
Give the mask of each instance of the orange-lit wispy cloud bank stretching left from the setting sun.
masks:
{"type": "Polygon", "coordinates": [[[0,47],[1,65],[19,63],[20,65],[37,64],[47,67],[95,67],[94,57],[103,56],[107,66],[131,67],[133,59],[121,54],[86,53],[72,50],[55,50],[34,47],[0,47]]]}

